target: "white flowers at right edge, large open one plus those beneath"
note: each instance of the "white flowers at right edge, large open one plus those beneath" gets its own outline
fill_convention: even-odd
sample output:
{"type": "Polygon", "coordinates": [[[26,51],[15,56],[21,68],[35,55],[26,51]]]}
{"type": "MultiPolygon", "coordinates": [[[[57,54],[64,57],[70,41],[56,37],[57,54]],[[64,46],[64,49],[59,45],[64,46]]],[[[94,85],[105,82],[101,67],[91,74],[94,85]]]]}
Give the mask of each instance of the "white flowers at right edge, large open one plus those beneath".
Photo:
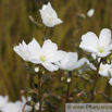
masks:
{"type": "MultiPolygon", "coordinates": [[[[90,52],[94,59],[98,57],[98,62],[101,58],[105,58],[111,53],[112,50],[112,42],[111,42],[111,30],[108,28],[103,28],[99,35],[97,36],[89,32],[82,36],[82,42],[79,45],[82,49],[87,52],[90,52]]],[[[92,63],[87,61],[87,64],[92,66],[92,63]]],[[[92,66],[92,70],[97,70],[92,66]]],[[[99,74],[101,76],[109,76],[109,72],[112,75],[112,64],[100,64],[99,74]]],[[[109,84],[112,85],[112,77],[110,77],[109,84]]]]}

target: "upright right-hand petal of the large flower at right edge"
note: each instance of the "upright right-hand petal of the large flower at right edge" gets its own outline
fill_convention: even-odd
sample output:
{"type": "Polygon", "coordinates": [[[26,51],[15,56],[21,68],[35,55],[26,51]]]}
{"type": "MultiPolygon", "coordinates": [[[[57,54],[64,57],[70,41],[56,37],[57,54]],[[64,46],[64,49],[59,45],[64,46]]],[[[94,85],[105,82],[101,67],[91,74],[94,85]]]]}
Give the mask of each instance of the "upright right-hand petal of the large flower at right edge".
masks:
{"type": "Polygon", "coordinates": [[[99,42],[101,46],[107,48],[111,42],[111,30],[108,28],[103,28],[99,35],[99,42]]]}

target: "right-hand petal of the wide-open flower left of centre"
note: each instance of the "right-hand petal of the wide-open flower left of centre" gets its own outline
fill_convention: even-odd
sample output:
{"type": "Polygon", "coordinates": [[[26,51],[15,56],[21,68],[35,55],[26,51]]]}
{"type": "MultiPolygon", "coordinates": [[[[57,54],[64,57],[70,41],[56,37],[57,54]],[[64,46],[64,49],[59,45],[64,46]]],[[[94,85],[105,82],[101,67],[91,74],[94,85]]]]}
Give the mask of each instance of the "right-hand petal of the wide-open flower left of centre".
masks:
{"type": "Polygon", "coordinates": [[[65,57],[65,52],[57,51],[47,62],[58,62],[65,57]]]}

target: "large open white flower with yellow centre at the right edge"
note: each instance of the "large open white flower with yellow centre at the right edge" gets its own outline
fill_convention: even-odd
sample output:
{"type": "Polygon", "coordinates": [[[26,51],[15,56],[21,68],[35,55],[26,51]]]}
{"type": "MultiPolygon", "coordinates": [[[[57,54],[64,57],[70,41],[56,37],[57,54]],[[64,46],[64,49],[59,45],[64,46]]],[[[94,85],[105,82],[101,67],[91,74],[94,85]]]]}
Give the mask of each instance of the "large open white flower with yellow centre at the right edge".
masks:
{"type": "Polygon", "coordinates": [[[88,32],[82,36],[79,48],[95,53],[100,58],[107,57],[111,53],[110,50],[112,50],[111,30],[103,28],[100,33],[99,39],[94,33],[88,32]]]}

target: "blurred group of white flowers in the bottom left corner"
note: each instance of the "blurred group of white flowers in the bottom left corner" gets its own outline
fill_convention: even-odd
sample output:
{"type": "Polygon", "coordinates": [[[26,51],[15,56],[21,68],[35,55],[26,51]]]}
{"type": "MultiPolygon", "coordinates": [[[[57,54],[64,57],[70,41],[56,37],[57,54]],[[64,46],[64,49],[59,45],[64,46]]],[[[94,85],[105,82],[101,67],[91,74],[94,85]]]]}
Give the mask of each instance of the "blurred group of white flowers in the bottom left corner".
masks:
{"type": "MultiPolygon", "coordinates": [[[[10,102],[9,97],[5,96],[0,96],[0,111],[2,112],[22,112],[22,109],[26,101],[30,101],[32,97],[27,97],[27,99],[22,96],[22,101],[15,101],[15,102],[10,102]]],[[[35,105],[35,109],[38,110],[39,103],[37,102],[35,105]]],[[[25,107],[25,112],[30,112],[33,110],[32,107],[26,105],[25,107]]]]}

